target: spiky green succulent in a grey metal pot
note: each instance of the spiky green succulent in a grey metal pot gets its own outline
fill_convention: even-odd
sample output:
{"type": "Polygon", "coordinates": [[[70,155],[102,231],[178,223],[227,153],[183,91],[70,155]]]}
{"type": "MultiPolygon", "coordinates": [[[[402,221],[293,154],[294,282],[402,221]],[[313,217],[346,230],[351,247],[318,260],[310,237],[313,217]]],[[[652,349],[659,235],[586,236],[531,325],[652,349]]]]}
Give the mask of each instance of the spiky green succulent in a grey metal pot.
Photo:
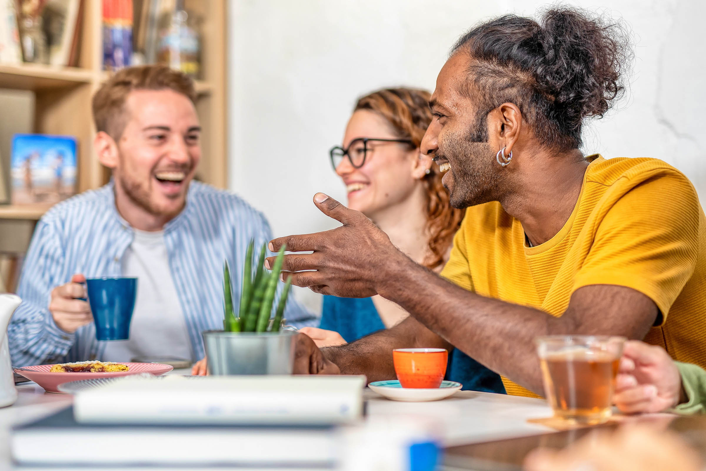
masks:
{"type": "Polygon", "coordinates": [[[252,274],[254,244],[250,241],[243,268],[243,283],[238,315],[233,304],[230,268],[223,264],[223,330],[203,333],[210,374],[292,374],[294,366],[294,330],[282,330],[282,316],[291,289],[287,279],[285,289],[273,314],[277,285],[286,246],[282,246],[272,273],[265,271],[266,246],[258,257],[255,275],[252,274]]]}

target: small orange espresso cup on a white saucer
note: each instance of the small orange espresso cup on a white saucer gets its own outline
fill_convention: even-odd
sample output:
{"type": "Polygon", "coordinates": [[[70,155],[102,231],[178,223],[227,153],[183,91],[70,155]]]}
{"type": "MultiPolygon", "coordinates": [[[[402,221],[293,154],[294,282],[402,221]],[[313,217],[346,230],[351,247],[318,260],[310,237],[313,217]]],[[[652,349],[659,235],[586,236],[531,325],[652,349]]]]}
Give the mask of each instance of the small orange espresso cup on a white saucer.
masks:
{"type": "Polygon", "coordinates": [[[446,374],[448,351],[443,348],[393,350],[395,373],[402,388],[438,388],[446,374]]]}

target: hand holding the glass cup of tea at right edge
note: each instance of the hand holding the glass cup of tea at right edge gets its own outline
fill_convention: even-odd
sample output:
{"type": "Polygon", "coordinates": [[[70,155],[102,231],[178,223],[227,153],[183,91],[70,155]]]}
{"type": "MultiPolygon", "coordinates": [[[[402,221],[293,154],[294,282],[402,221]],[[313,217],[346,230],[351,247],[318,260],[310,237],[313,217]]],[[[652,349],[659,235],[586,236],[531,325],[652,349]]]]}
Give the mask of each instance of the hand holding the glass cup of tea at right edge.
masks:
{"type": "Polygon", "coordinates": [[[662,412],[686,402],[681,374],[662,347],[626,342],[616,378],[614,402],[621,412],[662,412]]]}

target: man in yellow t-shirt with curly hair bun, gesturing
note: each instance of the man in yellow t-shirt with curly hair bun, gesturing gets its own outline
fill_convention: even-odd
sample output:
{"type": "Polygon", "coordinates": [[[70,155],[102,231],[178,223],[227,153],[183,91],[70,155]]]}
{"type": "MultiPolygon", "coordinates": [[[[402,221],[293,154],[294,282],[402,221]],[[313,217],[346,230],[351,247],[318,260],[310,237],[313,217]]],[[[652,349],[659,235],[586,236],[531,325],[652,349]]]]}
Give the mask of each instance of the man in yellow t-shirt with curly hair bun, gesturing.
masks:
{"type": "Polygon", "coordinates": [[[434,275],[317,193],[343,226],[273,241],[313,251],[285,259],[294,285],[381,294],[410,317],[341,347],[300,339],[297,371],[376,381],[395,377],[393,348],[456,347],[501,374],[508,393],[542,394],[534,338],[553,334],[645,339],[706,366],[706,220],[692,184],[661,160],[579,150],[582,124],[623,90],[624,37],[560,6],[539,23],[496,18],[457,42],[421,145],[446,171],[451,204],[468,208],[450,260],[434,275]]]}

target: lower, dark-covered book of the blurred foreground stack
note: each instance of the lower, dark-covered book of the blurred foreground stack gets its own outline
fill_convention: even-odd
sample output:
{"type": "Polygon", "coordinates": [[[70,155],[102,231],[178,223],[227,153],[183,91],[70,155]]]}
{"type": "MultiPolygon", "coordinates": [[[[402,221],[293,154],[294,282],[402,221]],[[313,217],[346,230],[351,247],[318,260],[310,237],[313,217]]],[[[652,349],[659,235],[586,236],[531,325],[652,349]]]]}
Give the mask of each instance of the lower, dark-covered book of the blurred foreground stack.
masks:
{"type": "Polygon", "coordinates": [[[71,469],[81,465],[309,469],[334,465],[341,441],[334,427],[79,424],[68,407],[15,427],[10,448],[22,465],[71,465],[71,469]]]}

